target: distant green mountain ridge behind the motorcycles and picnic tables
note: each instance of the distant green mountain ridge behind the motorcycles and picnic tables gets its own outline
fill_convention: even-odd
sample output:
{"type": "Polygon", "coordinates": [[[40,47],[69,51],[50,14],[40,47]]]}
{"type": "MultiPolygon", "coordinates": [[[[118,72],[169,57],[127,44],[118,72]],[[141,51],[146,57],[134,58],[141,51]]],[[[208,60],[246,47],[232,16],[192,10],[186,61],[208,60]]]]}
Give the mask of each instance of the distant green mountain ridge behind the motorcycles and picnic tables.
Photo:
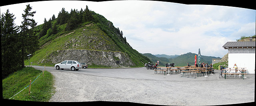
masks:
{"type": "MultiPolygon", "coordinates": [[[[175,58],[157,57],[157,56],[165,56],[166,54],[155,56],[155,55],[150,54],[150,53],[145,53],[145,54],[142,54],[142,55],[148,57],[150,59],[150,61],[153,62],[153,64],[155,62],[159,61],[159,66],[165,66],[166,63],[174,63],[175,66],[187,66],[187,64],[190,64],[190,65],[193,66],[194,63],[195,63],[195,59],[194,59],[195,55],[196,55],[196,57],[198,57],[198,54],[191,53],[191,52],[188,52],[186,54],[182,54],[180,56],[174,55],[175,58]]],[[[168,57],[168,55],[167,55],[167,57],[168,57]]],[[[200,62],[211,64],[212,63],[212,58],[220,58],[220,57],[202,56],[201,55],[200,62]]],[[[198,64],[198,60],[196,60],[196,62],[198,64]]]]}

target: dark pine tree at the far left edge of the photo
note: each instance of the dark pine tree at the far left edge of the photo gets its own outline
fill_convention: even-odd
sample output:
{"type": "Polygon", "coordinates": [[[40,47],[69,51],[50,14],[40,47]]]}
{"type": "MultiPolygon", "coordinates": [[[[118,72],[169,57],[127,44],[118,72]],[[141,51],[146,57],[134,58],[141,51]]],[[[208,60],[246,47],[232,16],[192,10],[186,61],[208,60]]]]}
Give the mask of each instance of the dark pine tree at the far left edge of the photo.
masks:
{"type": "Polygon", "coordinates": [[[18,28],[14,24],[14,15],[6,10],[1,15],[1,53],[2,78],[21,68],[20,47],[17,44],[18,28]]]}

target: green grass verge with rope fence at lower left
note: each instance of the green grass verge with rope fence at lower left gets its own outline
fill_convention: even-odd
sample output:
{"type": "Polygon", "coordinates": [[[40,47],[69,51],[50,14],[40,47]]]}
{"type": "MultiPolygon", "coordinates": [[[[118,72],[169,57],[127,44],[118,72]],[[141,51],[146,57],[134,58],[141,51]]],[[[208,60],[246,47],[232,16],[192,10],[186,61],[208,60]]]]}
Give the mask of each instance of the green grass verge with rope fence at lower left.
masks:
{"type": "Polygon", "coordinates": [[[54,89],[54,76],[47,71],[44,71],[43,76],[42,70],[32,67],[23,68],[2,80],[3,99],[48,102],[54,94],[54,89]],[[30,86],[30,95],[28,95],[29,87],[27,86],[30,80],[34,82],[30,86]]]}

